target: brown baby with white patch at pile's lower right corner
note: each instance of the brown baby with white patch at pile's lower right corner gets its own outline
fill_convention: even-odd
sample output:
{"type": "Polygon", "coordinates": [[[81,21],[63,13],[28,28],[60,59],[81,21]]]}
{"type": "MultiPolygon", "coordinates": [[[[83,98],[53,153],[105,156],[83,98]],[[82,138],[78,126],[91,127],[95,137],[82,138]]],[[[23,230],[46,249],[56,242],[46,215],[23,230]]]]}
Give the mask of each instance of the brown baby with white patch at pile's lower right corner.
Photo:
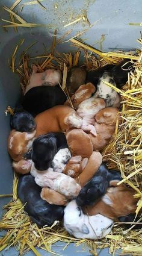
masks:
{"type": "Polygon", "coordinates": [[[102,214],[118,221],[118,217],[135,213],[138,198],[134,198],[135,191],[125,184],[117,186],[118,181],[111,181],[108,192],[95,204],[84,208],[89,215],[102,214]]]}

